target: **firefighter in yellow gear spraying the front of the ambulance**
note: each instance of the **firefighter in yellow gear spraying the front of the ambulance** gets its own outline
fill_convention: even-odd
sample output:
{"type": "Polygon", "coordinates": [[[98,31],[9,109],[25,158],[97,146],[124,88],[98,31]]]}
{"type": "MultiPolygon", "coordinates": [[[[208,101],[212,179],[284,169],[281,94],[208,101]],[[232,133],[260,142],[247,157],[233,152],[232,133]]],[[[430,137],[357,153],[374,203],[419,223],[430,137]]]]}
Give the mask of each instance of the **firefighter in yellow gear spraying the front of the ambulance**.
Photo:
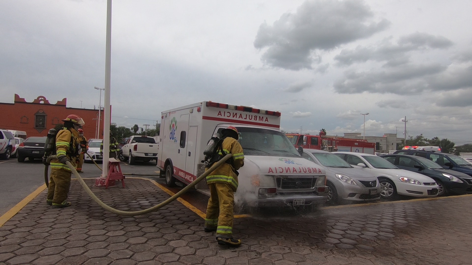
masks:
{"type": "Polygon", "coordinates": [[[216,231],[216,239],[220,245],[239,246],[241,240],[233,238],[233,208],[234,192],[238,186],[236,170],[244,166],[244,154],[237,141],[239,135],[235,127],[229,126],[221,133],[223,150],[218,149],[219,154],[225,156],[231,153],[233,157],[206,177],[210,199],[205,216],[205,232],[216,231]]]}

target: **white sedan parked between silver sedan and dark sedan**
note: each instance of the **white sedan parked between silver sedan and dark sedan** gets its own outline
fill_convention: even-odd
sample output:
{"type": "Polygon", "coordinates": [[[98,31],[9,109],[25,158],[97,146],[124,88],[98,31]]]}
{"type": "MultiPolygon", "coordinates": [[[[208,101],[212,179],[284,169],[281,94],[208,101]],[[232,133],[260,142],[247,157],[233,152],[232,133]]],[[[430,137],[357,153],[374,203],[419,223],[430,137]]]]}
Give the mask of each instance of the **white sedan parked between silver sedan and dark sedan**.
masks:
{"type": "Polygon", "coordinates": [[[438,184],[423,174],[400,169],[382,157],[353,152],[334,152],[347,163],[369,174],[374,174],[380,182],[380,195],[394,199],[398,195],[412,197],[438,196],[438,184]]]}

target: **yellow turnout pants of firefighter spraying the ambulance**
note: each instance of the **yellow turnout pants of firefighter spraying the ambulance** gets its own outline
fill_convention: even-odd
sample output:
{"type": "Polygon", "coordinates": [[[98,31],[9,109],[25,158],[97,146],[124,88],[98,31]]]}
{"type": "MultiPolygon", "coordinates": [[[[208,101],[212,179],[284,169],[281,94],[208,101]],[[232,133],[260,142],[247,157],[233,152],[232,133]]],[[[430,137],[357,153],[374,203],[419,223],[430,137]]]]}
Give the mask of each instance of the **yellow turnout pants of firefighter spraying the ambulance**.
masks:
{"type": "Polygon", "coordinates": [[[211,183],[205,227],[216,228],[216,236],[233,238],[233,207],[235,197],[229,183],[211,183]]]}

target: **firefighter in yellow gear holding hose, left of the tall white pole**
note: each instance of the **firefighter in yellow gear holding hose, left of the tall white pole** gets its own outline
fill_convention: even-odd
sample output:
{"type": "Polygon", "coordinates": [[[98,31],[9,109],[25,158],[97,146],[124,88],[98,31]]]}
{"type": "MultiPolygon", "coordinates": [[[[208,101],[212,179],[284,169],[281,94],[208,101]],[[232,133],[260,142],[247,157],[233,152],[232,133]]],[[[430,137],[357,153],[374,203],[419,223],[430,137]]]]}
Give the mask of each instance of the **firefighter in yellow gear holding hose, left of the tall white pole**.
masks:
{"type": "Polygon", "coordinates": [[[49,182],[46,203],[53,207],[62,208],[70,206],[67,195],[70,188],[71,170],[66,165],[69,161],[73,166],[79,157],[79,141],[77,129],[83,126],[84,120],[77,115],[69,115],[62,120],[64,128],[56,135],[57,159],[51,159],[51,178],[49,182]]]}

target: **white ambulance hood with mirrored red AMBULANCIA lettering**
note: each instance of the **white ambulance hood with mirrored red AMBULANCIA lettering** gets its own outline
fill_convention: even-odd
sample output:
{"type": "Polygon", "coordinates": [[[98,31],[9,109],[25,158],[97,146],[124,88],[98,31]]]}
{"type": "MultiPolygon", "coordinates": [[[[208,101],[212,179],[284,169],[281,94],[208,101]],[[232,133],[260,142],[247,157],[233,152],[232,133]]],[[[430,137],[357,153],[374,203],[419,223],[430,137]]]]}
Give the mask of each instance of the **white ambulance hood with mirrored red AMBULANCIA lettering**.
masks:
{"type": "MultiPolygon", "coordinates": [[[[257,166],[261,174],[313,175],[326,174],[323,167],[302,157],[244,156],[257,166]]],[[[246,166],[246,165],[244,165],[246,166]]],[[[244,167],[243,167],[244,168],[244,167]]]]}

